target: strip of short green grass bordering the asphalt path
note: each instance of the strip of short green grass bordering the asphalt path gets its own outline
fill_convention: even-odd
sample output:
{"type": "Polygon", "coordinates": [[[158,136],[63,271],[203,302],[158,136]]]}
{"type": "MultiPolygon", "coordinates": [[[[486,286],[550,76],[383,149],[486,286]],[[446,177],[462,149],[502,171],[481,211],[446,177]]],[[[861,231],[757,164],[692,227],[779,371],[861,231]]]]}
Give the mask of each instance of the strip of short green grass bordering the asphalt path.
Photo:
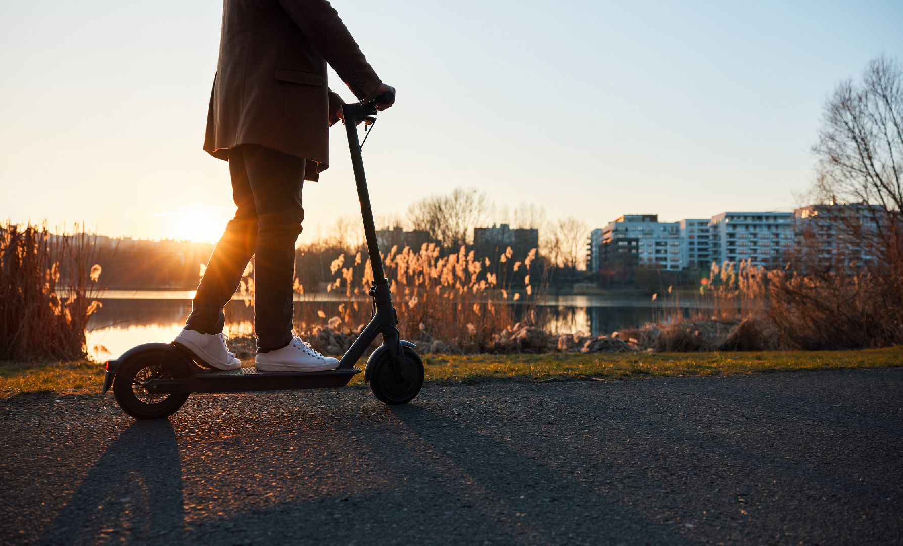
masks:
{"type": "MultiPolygon", "coordinates": [[[[451,356],[424,355],[428,385],[459,385],[484,381],[552,382],[604,381],[887,368],[903,364],[903,347],[869,351],[774,353],[597,353],[451,356]]],[[[253,366],[253,361],[244,363],[253,366]]],[[[358,364],[363,367],[363,362],[358,364]]],[[[351,387],[368,388],[358,373],[351,387]]],[[[92,395],[103,387],[104,366],[86,362],[0,362],[0,399],[23,395],[92,395]]]]}

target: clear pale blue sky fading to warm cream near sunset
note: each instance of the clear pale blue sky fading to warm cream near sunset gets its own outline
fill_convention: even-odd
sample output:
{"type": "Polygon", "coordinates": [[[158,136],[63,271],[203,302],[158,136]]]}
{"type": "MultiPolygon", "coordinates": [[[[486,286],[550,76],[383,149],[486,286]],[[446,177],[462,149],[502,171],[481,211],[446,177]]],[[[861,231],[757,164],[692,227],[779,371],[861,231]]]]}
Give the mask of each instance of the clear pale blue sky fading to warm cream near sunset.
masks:
{"type": "MultiPolygon", "coordinates": [[[[590,228],[792,210],[832,89],[881,52],[903,60],[899,0],[332,5],[397,89],[364,148],[377,216],[457,186],[590,228]]],[[[201,145],[221,14],[0,2],[0,219],[217,240],[228,164],[201,145]]],[[[330,137],[301,240],[359,216],[343,128],[330,137]]]]}

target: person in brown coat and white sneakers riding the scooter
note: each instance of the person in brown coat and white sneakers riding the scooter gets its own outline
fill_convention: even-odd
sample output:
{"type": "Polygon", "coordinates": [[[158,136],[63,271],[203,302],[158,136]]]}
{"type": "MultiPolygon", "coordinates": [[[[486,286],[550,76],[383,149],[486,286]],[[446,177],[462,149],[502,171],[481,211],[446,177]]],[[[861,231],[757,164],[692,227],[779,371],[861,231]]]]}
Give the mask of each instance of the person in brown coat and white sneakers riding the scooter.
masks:
{"type": "Polygon", "coordinates": [[[338,365],[293,334],[294,243],[301,193],[329,167],[329,127],[344,101],[327,86],[327,63],[367,105],[382,83],[327,0],[225,0],[204,150],[228,161],[235,217],[213,250],[191,315],[173,344],[219,370],[228,352],[223,307],[253,256],[256,369],[319,372],[338,365]]]}

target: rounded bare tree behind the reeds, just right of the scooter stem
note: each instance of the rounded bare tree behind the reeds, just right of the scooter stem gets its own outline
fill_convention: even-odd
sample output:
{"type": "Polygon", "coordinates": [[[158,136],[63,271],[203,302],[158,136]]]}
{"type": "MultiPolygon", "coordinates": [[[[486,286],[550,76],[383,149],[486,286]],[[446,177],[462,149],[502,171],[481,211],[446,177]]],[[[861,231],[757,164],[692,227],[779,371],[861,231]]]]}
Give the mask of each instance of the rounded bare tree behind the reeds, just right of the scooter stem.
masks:
{"type": "Polygon", "coordinates": [[[443,247],[455,249],[470,242],[473,228],[489,219],[494,210],[486,192],[458,187],[452,193],[415,202],[407,210],[407,221],[412,229],[427,231],[443,247]]]}

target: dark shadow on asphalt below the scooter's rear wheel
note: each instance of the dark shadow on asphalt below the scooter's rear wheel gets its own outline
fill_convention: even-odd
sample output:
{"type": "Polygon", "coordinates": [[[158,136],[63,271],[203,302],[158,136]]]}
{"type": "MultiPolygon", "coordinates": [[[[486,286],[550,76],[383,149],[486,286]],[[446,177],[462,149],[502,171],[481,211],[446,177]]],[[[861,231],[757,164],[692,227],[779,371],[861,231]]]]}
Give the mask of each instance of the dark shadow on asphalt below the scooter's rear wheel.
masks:
{"type": "Polygon", "coordinates": [[[116,438],[42,536],[42,544],[184,537],[182,464],[169,419],[139,420],[116,438]]]}

